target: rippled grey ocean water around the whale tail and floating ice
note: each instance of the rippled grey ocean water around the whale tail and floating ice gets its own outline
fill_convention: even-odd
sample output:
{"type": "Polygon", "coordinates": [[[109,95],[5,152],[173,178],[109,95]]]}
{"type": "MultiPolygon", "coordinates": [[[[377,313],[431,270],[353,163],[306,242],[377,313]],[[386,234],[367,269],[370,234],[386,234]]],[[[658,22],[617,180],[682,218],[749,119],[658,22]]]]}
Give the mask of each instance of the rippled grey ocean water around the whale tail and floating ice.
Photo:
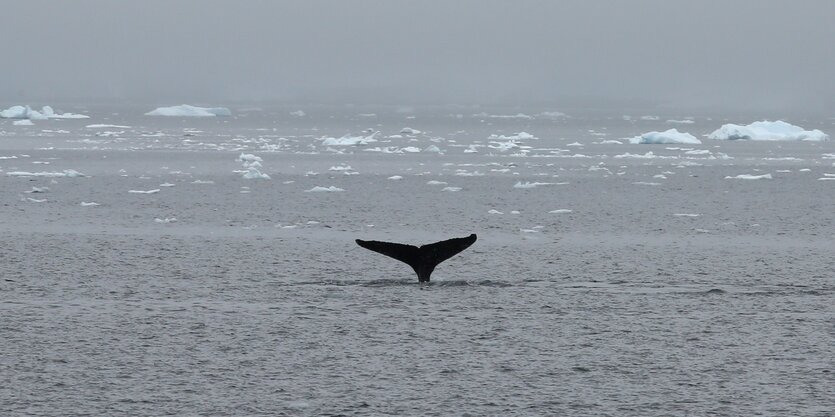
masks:
{"type": "Polygon", "coordinates": [[[0,119],[2,415],[835,413],[833,141],[703,137],[756,120],[728,115],[65,107],[91,117],[0,119]],[[603,142],[671,127],[703,143],[603,142]],[[470,233],[428,285],[354,243],[470,233]]]}

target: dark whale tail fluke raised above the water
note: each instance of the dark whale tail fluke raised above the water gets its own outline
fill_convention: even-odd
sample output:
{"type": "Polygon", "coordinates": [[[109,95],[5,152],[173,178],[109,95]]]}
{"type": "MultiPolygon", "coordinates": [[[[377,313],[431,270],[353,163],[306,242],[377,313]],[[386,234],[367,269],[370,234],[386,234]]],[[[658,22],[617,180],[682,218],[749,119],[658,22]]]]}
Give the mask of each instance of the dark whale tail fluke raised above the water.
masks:
{"type": "Polygon", "coordinates": [[[432,275],[432,271],[439,263],[467,249],[475,241],[476,235],[473,233],[467,237],[443,240],[421,247],[359,239],[357,239],[357,245],[405,262],[418,274],[419,282],[429,282],[429,276],[432,275]]]}

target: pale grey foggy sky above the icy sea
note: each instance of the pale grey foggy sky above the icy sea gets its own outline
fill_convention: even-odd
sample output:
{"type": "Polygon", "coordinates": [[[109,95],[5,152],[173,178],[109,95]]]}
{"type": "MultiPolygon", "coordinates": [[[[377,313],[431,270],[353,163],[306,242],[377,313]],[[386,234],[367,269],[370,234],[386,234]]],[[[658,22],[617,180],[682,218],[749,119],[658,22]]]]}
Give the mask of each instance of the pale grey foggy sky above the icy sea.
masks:
{"type": "Polygon", "coordinates": [[[0,101],[835,105],[835,1],[3,0],[0,101]]]}

